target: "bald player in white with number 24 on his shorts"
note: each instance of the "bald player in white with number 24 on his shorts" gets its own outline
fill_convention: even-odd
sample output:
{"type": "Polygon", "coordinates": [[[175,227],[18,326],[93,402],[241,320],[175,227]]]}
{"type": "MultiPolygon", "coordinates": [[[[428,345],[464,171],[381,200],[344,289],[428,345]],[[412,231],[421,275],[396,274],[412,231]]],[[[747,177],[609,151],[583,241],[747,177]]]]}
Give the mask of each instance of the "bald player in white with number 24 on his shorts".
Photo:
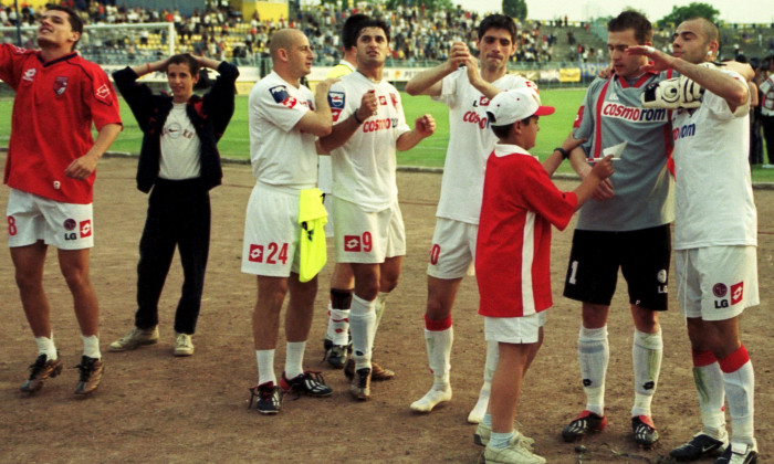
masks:
{"type": "Polygon", "coordinates": [[[251,390],[263,414],[280,412],[280,388],[315,397],[331,394],[331,388],[302,366],[317,278],[299,277],[299,211],[302,191],[315,188],[317,180],[315,138],[331,133],[327,91],[332,81],[317,84],[315,94],[300,84],[314,60],[302,32],[278,31],[270,50],[273,71],[253,86],[249,99],[255,187],[248,203],[242,251],[242,272],[258,275],[252,318],[258,386],[251,390]],[[285,371],[278,387],[274,348],[280,309],[289,292],[285,371]]]}

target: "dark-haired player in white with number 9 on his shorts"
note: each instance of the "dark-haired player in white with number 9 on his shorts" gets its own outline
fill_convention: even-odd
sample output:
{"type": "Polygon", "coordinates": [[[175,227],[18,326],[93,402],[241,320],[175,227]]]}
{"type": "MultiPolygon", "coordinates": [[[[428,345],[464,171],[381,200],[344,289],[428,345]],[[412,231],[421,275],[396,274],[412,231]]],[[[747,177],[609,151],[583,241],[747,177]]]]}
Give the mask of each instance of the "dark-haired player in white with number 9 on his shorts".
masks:
{"type": "Polygon", "coordinates": [[[408,150],[432,135],[432,116],[410,130],[400,94],[383,80],[389,27],[369,19],[357,28],[357,70],[331,87],[333,131],[320,140],[333,160],[336,262],[351,263],[355,295],[349,314],[354,376],[349,391],[370,396],[377,306],[395,288],[406,251],[398,207],[396,150],[408,150]]]}

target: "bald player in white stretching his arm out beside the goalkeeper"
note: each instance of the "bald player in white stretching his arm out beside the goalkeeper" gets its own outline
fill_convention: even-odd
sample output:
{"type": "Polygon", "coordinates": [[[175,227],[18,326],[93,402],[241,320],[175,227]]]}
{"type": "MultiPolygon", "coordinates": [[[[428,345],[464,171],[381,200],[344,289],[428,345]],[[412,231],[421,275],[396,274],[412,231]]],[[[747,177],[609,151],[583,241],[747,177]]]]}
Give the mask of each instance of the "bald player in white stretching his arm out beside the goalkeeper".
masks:
{"type": "Polygon", "coordinates": [[[673,56],[652,48],[630,53],[651,59],[646,68],[676,70],[683,76],[678,82],[690,80],[704,88],[700,106],[678,109],[672,119],[678,299],[691,341],[703,430],[670,455],[692,461],[724,450],[715,463],[754,463],[755,382],[739,336],[739,316],[759,304],[757,219],[747,165],[750,92],[744,82],[752,70],[742,77],[710,63],[718,38],[710,21],[689,19],[672,38],[673,56]]]}

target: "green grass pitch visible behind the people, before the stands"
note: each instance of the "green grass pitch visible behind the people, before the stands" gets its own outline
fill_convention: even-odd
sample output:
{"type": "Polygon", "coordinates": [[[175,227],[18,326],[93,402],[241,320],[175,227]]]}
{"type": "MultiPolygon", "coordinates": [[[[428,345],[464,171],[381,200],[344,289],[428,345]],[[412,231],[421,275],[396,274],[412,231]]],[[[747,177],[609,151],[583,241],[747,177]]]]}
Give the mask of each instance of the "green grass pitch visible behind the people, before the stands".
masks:
{"type": "MultiPolygon", "coordinates": [[[[544,105],[556,107],[552,116],[541,118],[541,131],[537,144],[531,150],[533,154],[545,158],[554,147],[561,145],[572,127],[573,120],[580,106],[584,89],[545,89],[541,92],[544,105]]],[[[449,143],[449,117],[446,105],[433,102],[430,97],[412,97],[401,94],[406,119],[414,127],[414,119],[425,113],[430,113],[436,118],[438,129],[432,137],[422,140],[411,150],[398,154],[400,166],[443,167],[447,145],[449,143]]],[[[250,136],[248,133],[248,97],[237,97],[237,108],[226,135],[220,140],[220,154],[224,158],[249,159],[250,136]]],[[[10,134],[12,101],[0,99],[0,145],[7,146],[10,134]]],[[[121,114],[124,120],[124,131],[113,144],[113,151],[138,152],[143,134],[129,110],[129,107],[121,101],[121,114]]],[[[765,157],[765,155],[764,155],[765,157]]],[[[559,172],[572,172],[569,164],[563,164],[559,172]]],[[[753,168],[753,181],[774,182],[774,170],[753,168]]]]}

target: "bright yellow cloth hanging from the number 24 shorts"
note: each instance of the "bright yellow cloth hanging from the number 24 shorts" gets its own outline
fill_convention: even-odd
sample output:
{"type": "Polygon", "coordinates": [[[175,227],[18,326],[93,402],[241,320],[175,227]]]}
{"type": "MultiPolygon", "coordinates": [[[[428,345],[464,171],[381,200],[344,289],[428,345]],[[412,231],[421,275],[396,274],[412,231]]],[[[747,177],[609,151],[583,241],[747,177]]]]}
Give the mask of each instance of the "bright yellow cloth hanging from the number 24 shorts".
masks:
{"type": "Polygon", "coordinates": [[[327,261],[325,230],[328,213],[323,207],[323,192],[317,188],[301,191],[299,198],[299,224],[301,240],[299,241],[299,281],[313,280],[327,261]]]}

